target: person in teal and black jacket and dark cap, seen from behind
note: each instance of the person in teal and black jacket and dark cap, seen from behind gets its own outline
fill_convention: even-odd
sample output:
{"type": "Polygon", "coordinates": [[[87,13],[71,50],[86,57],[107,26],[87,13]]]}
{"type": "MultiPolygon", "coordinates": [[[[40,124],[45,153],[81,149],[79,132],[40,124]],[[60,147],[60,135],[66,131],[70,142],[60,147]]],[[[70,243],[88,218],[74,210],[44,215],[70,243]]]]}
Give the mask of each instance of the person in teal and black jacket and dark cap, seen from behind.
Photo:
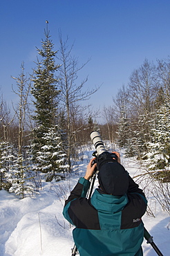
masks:
{"type": "Polygon", "coordinates": [[[117,160],[88,163],[84,178],[70,192],[64,217],[76,228],[73,239],[80,256],[141,256],[144,226],[141,217],[147,199],[117,160]],[[99,188],[86,199],[93,172],[99,170],[99,188]]]}

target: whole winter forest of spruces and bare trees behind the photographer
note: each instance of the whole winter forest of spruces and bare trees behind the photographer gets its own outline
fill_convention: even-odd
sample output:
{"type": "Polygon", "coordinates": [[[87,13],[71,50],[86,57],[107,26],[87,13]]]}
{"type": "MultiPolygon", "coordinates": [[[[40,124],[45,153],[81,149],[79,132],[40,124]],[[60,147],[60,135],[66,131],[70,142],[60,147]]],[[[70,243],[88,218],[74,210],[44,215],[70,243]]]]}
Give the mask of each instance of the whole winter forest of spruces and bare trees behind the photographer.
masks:
{"type": "MultiPolygon", "coordinates": [[[[169,57],[155,64],[145,59],[129,74],[113,104],[94,113],[88,99],[99,87],[86,89],[87,77],[77,82],[88,62],[79,66],[72,49],[60,33],[55,51],[47,27],[35,70],[28,75],[22,63],[20,75],[13,77],[17,106],[9,109],[1,94],[0,190],[24,198],[39,191],[42,179],[65,179],[82,158],[82,147],[91,143],[89,134],[97,130],[114,150],[123,148],[152,179],[166,184],[170,197],[169,57]],[[97,122],[98,115],[104,124],[97,122]]],[[[169,211],[170,205],[166,207],[169,211]]]]}

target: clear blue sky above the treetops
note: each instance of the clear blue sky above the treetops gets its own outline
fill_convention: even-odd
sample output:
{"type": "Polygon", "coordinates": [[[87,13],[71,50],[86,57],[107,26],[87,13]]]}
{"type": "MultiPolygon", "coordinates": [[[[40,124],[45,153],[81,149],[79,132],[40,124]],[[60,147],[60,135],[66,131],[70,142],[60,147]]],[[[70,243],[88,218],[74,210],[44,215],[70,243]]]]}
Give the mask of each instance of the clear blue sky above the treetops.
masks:
{"type": "Polygon", "coordinates": [[[170,53],[169,0],[1,0],[0,86],[3,99],[15,101],[11,85],[25,63],[35,68],[46,20],[55,50],[58,30],[74,44],[73,54],[88,75],[87,87],[102,84],[89,102],[93,109],[113,104],[113,96],[144,59],[156,62],[170,53]]]}

